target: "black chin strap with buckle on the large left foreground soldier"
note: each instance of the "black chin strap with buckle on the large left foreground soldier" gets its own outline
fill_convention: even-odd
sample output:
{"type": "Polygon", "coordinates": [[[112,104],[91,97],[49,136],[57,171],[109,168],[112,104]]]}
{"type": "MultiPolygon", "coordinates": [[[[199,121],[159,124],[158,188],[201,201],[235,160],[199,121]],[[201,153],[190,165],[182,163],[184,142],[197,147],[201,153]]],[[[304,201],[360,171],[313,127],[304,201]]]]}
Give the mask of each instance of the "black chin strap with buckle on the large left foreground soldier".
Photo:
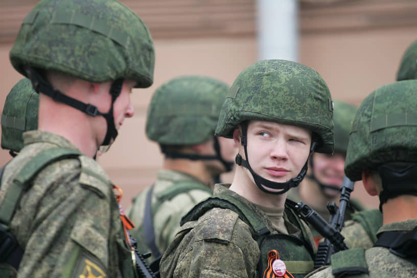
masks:
{"type": "Polygon", "coordinates": [[[101,146],[110,145],[111,140],[115,140],[118,135],[118,131],[114,124],[114,117],[113,117],[113,104],[114,101],[119,97],[120,92],[122,91],[123,85],[123,78],[119,78],[114,80],[110,87],[110,95],[111,95],[111,107],[107,113],[102,113],[98,110],[98,108],[91,104],[83,103],[79,100],[73,99],[62,94],[61,91],[55,90],[52,85],[45,81],[42,76],[33,68],[26,68],[26,73],[29,79],[32,81],[33,88],[39,93],[41,92],[44,95],[51,97],[54,101],[62,102],[68,106],[71,106],[81,112],[84,112],[92,117],[96,117],[98,115],[103,116],[107,123],[107,131],[104,141],[101,143],[101,146]]]}

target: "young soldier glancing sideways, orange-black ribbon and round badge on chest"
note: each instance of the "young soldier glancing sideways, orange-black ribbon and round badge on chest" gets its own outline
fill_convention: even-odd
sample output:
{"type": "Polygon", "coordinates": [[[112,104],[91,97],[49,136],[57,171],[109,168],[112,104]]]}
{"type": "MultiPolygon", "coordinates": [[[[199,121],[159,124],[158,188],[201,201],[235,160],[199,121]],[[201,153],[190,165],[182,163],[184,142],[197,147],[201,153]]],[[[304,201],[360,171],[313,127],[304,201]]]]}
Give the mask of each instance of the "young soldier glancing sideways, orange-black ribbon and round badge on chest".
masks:
{"type": "Polygon", "coordinates": [[[296,62],[258,61],[230,87],[216,134],[239,147],[235,177],[182,219],[161,276],[303,277],[316,246],[286,195],[304,178],[313,151],[333,152],[325,81],[296,62]]]}

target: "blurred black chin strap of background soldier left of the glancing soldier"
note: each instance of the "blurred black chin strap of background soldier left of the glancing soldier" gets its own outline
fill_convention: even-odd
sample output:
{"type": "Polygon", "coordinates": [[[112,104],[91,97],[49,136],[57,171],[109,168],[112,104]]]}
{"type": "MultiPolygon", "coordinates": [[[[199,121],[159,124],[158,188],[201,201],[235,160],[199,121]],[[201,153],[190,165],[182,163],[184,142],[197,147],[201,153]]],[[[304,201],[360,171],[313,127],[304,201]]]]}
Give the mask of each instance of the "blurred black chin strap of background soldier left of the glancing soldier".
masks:
{"type": "Polygon", "coordinates": [[[168,158],[172,158],[172,159],[185,158],[185,159],[190,159],[190,160],[219,160],[220,163],[225,168],[226,172],[231,171],[235,163],[234,161],[227,161],[222,157],[221,151],[220,151],[219,140],[216,136],[214,136],[213,147],[214,147],[214,150],[216,151],[215,155],[172,152],[172,151],[167,150],[164,146],[160,146],[161,152],[163,152],[165,156],[168,158]]]}

